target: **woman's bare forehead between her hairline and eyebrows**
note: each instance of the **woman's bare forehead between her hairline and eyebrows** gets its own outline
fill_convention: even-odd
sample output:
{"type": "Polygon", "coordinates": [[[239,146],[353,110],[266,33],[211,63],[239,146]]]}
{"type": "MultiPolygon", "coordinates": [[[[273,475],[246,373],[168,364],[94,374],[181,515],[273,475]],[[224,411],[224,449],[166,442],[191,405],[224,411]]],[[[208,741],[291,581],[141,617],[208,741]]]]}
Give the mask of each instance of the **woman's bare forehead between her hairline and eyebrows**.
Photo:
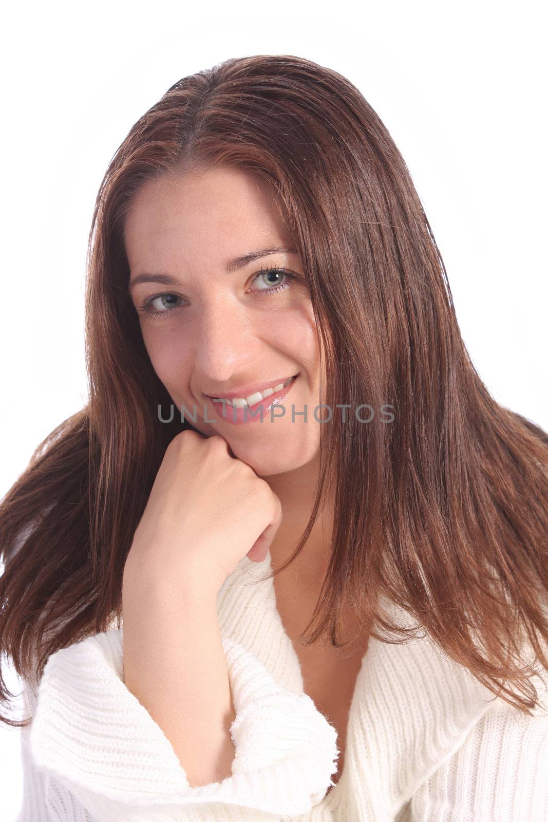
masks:
{"type": "Polygon", "coordinates": [[[274,189],[233,168],[163,173],[133,197],[124,225],[130,266],[241,254],[289,242],[274,189]]]}

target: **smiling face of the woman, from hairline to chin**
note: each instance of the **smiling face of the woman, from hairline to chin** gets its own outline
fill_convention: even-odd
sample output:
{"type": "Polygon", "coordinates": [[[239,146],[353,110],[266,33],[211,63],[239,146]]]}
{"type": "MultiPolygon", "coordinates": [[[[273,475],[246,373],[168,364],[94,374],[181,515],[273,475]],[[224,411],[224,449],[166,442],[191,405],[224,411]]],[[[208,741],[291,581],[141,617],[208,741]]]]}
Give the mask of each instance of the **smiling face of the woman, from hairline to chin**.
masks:
{"type": "MultiPolygon", "coordinates": [[[[164,174],[134,197],[124,239],[131,300],[177,418],[185,407],[196,430],[223,436],[260,476],[314,459],[320,344],[302,263],[271,189],[226,167],[164,174]],[[267,253],[274,248],[287,250],[267,253]],[[285,273],[269,274],[274,267],[285,273]],[[285,395],[256,395],[295,375],[285,395]],[[249,399],[247,422],[233,423],[244,409],[225,403],[223,411],[212,399],[233,394],[249,399]]],[[[168,419],[171,409],[161,410],[168,419]]]]}

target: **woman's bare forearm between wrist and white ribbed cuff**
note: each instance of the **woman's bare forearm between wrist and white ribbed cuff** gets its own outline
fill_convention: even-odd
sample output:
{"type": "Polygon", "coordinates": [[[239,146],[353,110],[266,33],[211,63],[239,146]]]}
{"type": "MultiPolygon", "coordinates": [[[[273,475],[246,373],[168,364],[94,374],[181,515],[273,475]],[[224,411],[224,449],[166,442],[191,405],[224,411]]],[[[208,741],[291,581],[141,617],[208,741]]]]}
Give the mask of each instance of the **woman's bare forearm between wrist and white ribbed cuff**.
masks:
{"type": "Polygon", "coordinates": [[[197,787],[230,776],[235,714],[214,589],[176,591],[124,571],[123,676],[197,787]]]}

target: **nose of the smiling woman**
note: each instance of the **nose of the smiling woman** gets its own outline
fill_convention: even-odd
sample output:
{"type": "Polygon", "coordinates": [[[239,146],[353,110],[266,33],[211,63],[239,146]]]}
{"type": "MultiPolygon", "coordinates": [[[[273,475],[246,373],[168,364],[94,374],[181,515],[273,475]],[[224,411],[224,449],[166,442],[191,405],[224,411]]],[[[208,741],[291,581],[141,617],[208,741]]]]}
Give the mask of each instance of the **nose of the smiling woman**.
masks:
{"type": "Polygon", "coordinates": [[[196,335],[196,369],[208,382],[229,382],[233,375],[246,373],[256,362],[256,329],[241,304],[226,296],[202,306],[196,335]]]}

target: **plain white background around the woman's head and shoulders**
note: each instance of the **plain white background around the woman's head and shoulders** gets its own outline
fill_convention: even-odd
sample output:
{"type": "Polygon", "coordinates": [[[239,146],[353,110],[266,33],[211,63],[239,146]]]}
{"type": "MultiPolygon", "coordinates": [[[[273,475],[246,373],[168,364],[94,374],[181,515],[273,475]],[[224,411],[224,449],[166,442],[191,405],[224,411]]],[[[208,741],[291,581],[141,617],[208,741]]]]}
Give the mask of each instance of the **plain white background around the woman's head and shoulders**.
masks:
{"type": "MultiPolygon", "coordinates": [[[[548,429],[541,4],[198,7],[4,12],[0,496],[85,403],[85,251],[109,160],[179,78],[252,54],[308,58],[361,90],[411,170],[477,370],[495,399],[548,429]]],[[[0,726],[2,822],[21,804],[18,756],[18,732],[0,726]]]]}

